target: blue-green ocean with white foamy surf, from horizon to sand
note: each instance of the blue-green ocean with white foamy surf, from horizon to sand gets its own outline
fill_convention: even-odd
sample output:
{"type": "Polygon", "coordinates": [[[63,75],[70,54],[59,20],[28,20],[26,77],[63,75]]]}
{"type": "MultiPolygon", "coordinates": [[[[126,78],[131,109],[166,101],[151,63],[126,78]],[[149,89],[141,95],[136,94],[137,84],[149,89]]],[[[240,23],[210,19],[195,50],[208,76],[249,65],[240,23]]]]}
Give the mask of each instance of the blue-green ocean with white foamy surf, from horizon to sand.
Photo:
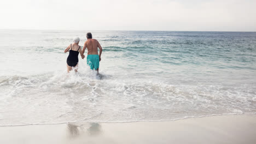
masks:
{"type": "Polygon", "coordinates": [[[0,30],[0,126],[256,113],[256,32],[91,31],[101,80],[67,74],[87,32],[0,30]]]}

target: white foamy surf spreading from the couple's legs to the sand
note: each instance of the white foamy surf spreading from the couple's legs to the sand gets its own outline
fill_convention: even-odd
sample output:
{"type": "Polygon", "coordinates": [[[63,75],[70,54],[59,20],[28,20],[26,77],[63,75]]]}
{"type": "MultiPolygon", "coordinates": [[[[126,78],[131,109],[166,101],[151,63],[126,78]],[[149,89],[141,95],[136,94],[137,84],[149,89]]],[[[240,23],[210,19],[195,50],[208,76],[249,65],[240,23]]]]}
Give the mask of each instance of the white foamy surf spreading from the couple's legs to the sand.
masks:
{"type": "Polygon", "coordinates": [[[6,88],[1,125],[65,122],[133,122],[241,114],[253,95],[232,87],[171,85],[160,80],[113,79],[108,73],[79,68],[31,76],[1,78],[6,88]],[[223,90],[224,89],[224,90],[223,90]],[[246,94],[246,95],[245,95],[246,94]]]}

